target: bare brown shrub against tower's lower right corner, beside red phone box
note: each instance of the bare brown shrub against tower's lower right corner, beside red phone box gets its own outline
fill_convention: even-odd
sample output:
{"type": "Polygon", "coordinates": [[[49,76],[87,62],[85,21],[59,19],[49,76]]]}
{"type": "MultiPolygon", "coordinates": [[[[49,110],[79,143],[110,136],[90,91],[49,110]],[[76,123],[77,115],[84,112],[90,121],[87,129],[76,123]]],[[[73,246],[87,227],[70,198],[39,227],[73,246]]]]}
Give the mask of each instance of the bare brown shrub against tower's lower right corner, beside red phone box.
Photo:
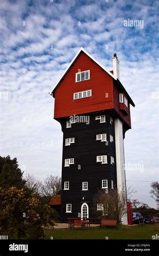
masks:
{"type": "Polygon", "coordinates": [[[127,213],[126,194],[117,189],[106,191],[98,190],[93,200],[94,212],[102,219],[117,219],[121,222],[127,213]]]}

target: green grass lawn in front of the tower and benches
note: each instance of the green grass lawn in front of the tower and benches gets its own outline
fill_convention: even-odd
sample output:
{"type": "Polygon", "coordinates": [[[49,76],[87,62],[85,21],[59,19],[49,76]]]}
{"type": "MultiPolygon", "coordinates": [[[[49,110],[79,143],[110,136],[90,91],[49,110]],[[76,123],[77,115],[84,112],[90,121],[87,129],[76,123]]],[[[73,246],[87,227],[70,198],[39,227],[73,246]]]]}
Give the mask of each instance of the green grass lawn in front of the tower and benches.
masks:
{"type": "Polygon", "coordinates": [[[59,228],[45,229],[45,239],[152,239],[152,235],[159,233],[159,224],[149,225],[145,227],[139,226],[118,226],[114,227],[87,227],[82,230],[79,227],[74,229],[59,228]]]}

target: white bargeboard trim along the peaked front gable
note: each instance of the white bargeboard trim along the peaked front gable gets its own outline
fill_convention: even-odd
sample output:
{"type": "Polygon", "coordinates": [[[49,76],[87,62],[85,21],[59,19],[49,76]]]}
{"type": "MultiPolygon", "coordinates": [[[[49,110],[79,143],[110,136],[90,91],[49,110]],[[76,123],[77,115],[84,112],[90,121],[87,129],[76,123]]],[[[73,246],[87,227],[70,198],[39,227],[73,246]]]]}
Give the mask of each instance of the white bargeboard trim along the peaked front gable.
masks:
{"type": "Polygon", "coordinates": [[[69,66],[66,68],[66,70],[64,71],[64,73],[60,76],[60,78],[58,79],[57,83],[55,84],[55,86],[52,88],[52,90],[49,92],[49,94],[52,94],[52,92],[55,90],[56,86],[59,84],[59,82],[61,81],[62,77],[66,74],[67,70],[70,68],[70,66],[72,65],[72,63],[75,61],[75,59],[77,58],[77,56],[81,53],[81,51],[83,51],[85,54],[87,54],[93,61],[95,61],[101,68],[103,68],[109,75],[111,75],[115,80],[117,80],[117,78],[110,72],[108,71],[103,65],[101,65],[96,59],[94,59],[88,52],[85,51],[85,49],[83,47],[80,48],[80,50],[77,52],[77,54],[74,56],[73,60],[71,61],[71,63],[69,64],[69,66]]]}

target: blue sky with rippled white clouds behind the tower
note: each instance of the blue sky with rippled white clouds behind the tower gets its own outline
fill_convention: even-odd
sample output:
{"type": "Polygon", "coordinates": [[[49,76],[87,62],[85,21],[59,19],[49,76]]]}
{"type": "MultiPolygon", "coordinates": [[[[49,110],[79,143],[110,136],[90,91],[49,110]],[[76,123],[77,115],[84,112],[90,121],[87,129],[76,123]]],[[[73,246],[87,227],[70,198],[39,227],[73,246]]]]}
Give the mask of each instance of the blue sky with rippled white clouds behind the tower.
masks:
{"type": "Polygon", "coordinates": [[[116,52],[120,81],[136,105],[124,139],[127,186],[137,190],[134,198],[155,207],[149,181],[159,178],[158,4],[2,0],[1,156],[17,157],[24,174],[40,180],[61,175],[62,132],[49,91],[81,46],[108,70],[116,52]],[[124,27],[127,19],[143,20],[144,28],[124,27]]]}

